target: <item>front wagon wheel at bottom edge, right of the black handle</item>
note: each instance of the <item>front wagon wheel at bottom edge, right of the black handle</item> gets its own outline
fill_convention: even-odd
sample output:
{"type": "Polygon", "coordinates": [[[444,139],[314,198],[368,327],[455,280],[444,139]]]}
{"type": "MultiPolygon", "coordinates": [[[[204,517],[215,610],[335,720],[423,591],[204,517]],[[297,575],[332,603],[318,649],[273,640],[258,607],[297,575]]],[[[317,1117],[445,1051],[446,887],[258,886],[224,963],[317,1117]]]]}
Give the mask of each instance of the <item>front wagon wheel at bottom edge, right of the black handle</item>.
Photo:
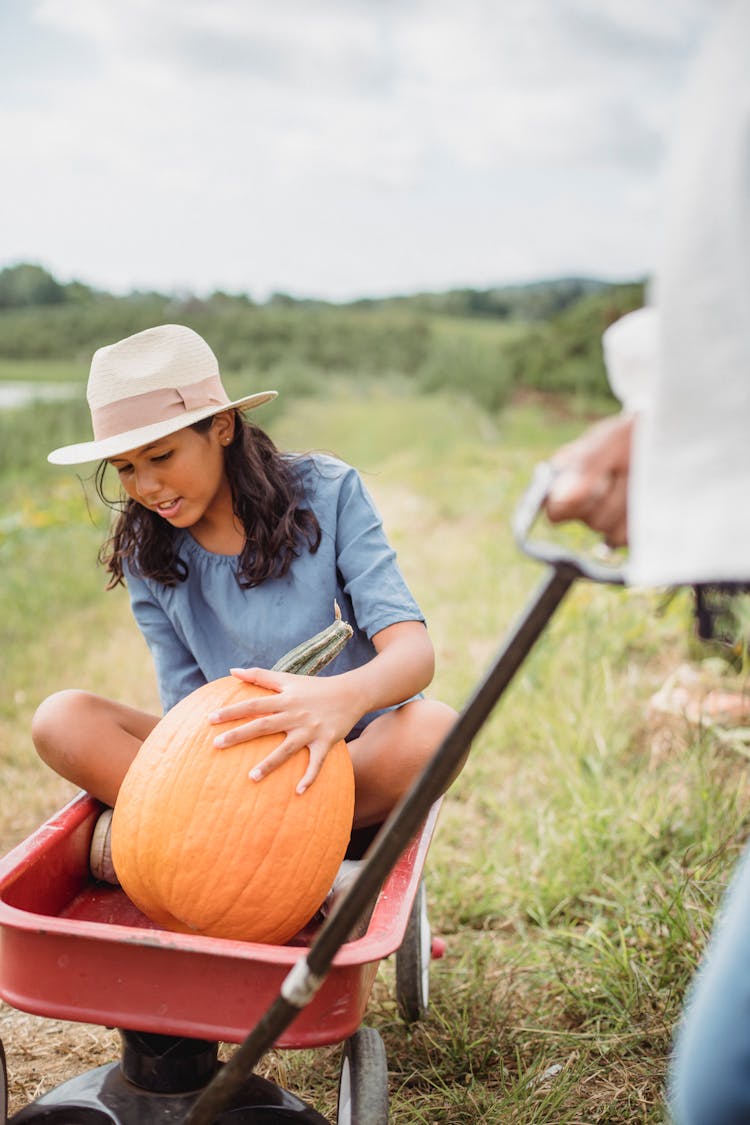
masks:
{"type": "Polygon", "coordinates": [[[374,1027],[344,1043],[338,1078],[338,1125],[388,1125],[388,1062],[374,1027]]]}

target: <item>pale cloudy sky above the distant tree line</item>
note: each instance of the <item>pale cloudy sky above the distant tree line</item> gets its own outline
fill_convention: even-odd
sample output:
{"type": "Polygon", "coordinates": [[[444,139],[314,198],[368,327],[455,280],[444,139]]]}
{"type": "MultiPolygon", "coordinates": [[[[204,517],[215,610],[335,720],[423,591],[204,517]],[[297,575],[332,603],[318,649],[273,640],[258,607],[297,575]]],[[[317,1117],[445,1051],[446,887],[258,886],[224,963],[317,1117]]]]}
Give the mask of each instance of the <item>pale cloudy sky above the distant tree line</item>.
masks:
{"type": "Polygon", "coordinates": [[[349,300],[631,280],[719,0],[2,0],[0,269],[349,300]]]}

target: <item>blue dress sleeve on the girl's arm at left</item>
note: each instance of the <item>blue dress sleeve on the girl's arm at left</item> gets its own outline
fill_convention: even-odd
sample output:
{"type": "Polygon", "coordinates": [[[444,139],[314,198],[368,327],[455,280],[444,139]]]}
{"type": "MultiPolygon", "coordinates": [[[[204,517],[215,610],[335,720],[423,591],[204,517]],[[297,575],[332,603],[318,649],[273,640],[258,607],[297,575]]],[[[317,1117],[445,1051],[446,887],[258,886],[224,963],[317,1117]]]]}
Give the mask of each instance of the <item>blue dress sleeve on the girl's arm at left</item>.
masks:
{"type": "Polygon", "coordinates": [[[148,583],[128,570],[127,587],[133,615],[154,660],[162,706],[169,711],[184,695],[205,684],[206,677],[189,648],[178,637],[148,583]]]}

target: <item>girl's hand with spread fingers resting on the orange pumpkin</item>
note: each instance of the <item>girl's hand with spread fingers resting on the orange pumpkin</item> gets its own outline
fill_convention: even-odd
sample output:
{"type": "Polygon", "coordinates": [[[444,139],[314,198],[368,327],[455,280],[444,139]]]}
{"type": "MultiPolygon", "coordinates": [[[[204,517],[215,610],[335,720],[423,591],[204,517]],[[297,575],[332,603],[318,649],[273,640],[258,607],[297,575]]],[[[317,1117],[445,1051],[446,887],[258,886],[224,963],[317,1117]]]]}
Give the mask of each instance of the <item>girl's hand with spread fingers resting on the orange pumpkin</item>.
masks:
{"type": "Polygon", "coordinates": [[[245,683],[270,688],[273,695],[233,703],[209,716],[213,723],[246,720],[233,730],[218,735],[214,745],[226,749],[260,735],[283,734],[279,746],[251,771],[253,781],[260,781],[307,746],[308,766],[297,785],[297,792],[304,793],[318,775],[331,747],[344,738],[361,718],[356,702],[349,698],[351,693],[345,690],[345,676],[317,678],[264,668],[231,670],[245,683]]]}

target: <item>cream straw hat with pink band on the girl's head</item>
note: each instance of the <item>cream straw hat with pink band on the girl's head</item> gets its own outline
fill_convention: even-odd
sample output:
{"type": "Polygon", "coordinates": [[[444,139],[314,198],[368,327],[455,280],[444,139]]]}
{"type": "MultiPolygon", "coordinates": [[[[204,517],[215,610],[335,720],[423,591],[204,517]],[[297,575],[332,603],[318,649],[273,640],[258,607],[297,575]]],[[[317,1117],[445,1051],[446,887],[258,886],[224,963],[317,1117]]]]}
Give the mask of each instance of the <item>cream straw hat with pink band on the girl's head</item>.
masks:
{"type": "Polygon", "coordinates": [[[94,352],[87,387],[93,441],[54,449],[47,460],[117,457],[219,411],[250,411],[275,396],[261,390],[229,402],[206,341],[181,324],[162,324],[94,352]]]}

